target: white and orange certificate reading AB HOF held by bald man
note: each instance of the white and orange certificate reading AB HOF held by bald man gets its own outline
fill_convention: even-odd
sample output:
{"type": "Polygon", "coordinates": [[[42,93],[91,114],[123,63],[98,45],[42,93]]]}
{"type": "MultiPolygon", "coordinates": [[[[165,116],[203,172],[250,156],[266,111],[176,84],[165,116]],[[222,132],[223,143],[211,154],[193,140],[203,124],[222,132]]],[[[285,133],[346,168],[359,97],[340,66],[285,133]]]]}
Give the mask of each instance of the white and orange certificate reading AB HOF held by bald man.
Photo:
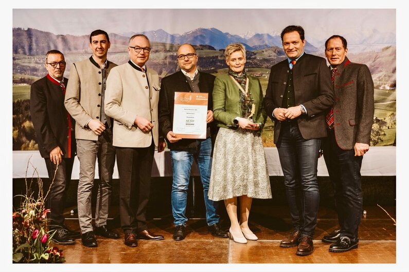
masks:
{"type": "Polygon", "coordinates": [[[175,92],[173,132],[183,139],[206,139],[208,93],[175,92]]]}

